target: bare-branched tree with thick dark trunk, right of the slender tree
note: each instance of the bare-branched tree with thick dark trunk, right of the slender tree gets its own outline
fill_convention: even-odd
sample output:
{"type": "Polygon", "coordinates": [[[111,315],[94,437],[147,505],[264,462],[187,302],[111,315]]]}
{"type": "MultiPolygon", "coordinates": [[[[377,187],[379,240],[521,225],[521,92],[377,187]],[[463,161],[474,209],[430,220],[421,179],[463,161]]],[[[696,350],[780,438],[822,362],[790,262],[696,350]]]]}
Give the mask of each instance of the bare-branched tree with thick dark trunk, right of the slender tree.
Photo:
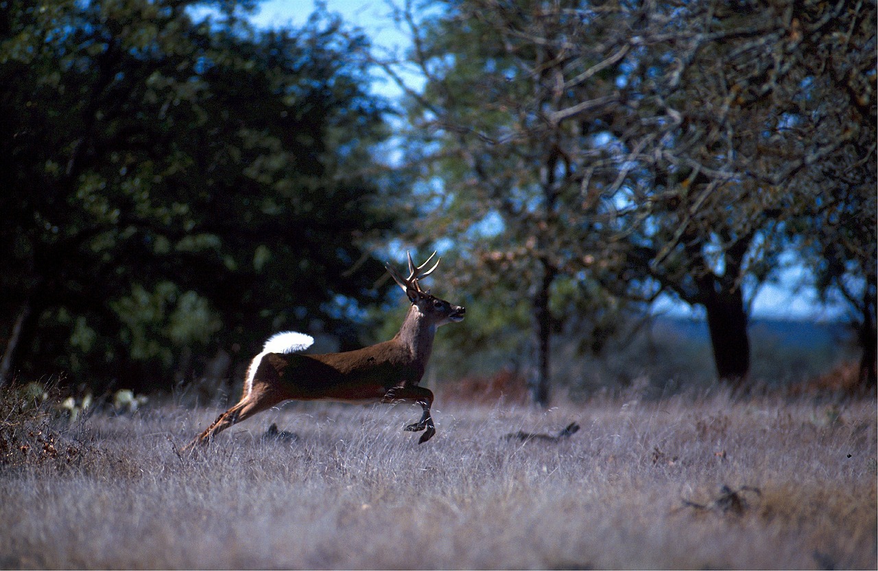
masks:
{"type": "MultiPolygon", "coordinates": [[[[643,156],[651,177],[638,202],[651,207],[637,244],[646,252],[635,259],[707,309],[718,375],[741,385],[747,282],[752,291],[768,278],[788,231],[801,231],[794,220],[818,216],[808,205],[845,185],[821,177],[825,165],[874,163],[864,81],[874,77],[874,5],[710,2],[673,17],[687,23],[684,33],[644,36],[672,62],[644,91],[664,109],[672,144],[643,156]]],[[[875,184],[874,174],[857,178],[875,184]]]]}

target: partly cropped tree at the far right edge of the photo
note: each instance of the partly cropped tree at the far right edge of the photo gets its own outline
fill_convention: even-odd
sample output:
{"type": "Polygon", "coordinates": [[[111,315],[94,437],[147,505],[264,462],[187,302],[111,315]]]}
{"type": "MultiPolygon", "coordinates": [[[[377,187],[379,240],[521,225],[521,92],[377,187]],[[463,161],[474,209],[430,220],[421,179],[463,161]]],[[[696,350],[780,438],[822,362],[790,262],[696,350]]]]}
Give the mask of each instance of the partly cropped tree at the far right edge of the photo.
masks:
{"type": "Polygon", "coordinates": [[[805,97],[797,98],[791,130],[828,152],[794,163],[795,184],[805,189],[788,240],[802,254],[825,298],[846,300],[862,357],[860,382],[876,384],[875,305],[878,224],[875,216],[876,9],[874,3],[840,3],[797,15],[805,97]]]}

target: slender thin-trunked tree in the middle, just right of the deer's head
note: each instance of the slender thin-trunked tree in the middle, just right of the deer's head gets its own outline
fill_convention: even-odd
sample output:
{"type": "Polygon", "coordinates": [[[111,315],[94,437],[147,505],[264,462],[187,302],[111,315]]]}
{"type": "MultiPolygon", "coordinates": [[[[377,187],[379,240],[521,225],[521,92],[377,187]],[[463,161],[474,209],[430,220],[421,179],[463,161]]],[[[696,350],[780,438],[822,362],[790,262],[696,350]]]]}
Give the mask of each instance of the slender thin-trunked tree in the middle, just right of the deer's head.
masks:
{"type": "Polygon", "coordinates": [[[414,34],[412,61],[427,80],[422,93],[409,92],[408,107],[407,161],[422,169],[429,220],[419,225],[421,240],[450,238],[468,252],[456,273],[477,297],[494,300],[501,289],[500,307],[509,297],[529,300],[536,361],[530,389],[546,405],[551,333],[565,322],[563,312],[551,311],[554,292],[565,289],[561,282],[594,290],[587,273],[611,271],[592,264],[594,250],[586,253],[583,242],[601,241],[597,220],[606,219],[613,197],[584,201],[578,162],[600,154],[600,118],[620,100],[613,82],[622,54],[602,56],[624,53],[617,14],[595,13],[586,23],[541,3],[443,7],[424,22],[415,21],[411,6],[402,12],[414,34]],[[572,61],[572,46],[587,54],[572,61]],[[562,65],[572,76],[566,89],[562,65]],[[474,264],[479,271],[464,269],[474,264]],[[582,278],[569,279],[578,272],[582,278]]]}

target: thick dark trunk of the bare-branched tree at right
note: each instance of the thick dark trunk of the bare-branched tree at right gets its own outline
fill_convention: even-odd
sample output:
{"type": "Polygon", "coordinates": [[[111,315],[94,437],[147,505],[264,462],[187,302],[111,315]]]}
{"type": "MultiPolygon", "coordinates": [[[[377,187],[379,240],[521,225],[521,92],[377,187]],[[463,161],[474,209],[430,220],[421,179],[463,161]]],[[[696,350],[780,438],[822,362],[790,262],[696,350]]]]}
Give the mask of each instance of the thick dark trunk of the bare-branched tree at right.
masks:
{"type": "Polygon", "coordinates": [[[750,339],[747,336],[744,293],[739,287],[721,293],[711,288],[704,307],[708,313],[716,375],[732,387],[744,387],[750,373],[750,339]]]}

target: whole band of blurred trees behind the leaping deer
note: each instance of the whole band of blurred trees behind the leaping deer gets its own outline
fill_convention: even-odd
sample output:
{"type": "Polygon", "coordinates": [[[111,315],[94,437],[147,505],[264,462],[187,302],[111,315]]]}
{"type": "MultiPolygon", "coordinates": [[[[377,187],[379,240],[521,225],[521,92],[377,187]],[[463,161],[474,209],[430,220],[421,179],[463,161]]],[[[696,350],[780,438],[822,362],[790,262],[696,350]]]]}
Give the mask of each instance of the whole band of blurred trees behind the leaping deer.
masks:
{"type": "Polygon", "coordinates": [[[469,308],[449,370],[511,364],[543,404],[558,340],[615,351],[659,296],[747,387],[750,303],[790,260],[846,300],[874,385],[874,2],[407,2],[385,60],[325,7],[261,31],[255,4],[0,0],[0,385],[377,341],[371,253],[409,246],[469,308]],[[376,63],[424,79],[394,133],[376,63]]]}

